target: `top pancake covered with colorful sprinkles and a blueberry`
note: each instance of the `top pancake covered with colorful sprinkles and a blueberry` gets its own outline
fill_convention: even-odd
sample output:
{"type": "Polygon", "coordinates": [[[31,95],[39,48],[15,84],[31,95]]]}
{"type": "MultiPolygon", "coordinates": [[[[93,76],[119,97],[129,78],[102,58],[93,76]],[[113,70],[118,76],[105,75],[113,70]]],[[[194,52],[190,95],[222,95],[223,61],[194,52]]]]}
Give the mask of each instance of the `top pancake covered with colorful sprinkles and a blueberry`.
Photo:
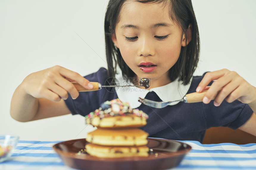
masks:
{"type": "Polygon", "coordinates": [[[102,128],[141,127],[147,124],[148,115],[132,109],[118,98],[105,101],[99,109],[85,116],[87,124],[102,128]]]}

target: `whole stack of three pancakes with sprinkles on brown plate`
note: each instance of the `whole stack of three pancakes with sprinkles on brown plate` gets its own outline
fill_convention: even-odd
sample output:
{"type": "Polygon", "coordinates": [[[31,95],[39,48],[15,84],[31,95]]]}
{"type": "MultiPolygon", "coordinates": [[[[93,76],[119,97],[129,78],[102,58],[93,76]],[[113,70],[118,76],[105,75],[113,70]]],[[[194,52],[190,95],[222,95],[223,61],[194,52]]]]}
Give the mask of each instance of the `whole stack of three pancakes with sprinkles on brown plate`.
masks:
{"type": "Polygon", "coordinates": [[[119,99],[105,101],[99,109],[85,116],[86,123],[97,129],[88,133],[86,152],[101,158],[148,156],[148,133],[139,129],[148,115],[130,108],[119,99]]]}

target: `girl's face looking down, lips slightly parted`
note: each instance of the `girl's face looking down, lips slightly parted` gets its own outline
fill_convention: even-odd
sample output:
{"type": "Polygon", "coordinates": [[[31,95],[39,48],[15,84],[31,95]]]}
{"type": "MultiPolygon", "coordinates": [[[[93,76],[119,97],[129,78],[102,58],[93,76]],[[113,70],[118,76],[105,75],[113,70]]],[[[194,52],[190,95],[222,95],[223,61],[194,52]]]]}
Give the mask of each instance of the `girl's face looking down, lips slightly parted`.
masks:
{"type": "Polygon", "coordinates": [[[138,78],[151,78],[151,88],[171,82],[168,70],[179,58],[185,38],[157,3],[127,1],[120,12],[112,40],[138,78]]]}

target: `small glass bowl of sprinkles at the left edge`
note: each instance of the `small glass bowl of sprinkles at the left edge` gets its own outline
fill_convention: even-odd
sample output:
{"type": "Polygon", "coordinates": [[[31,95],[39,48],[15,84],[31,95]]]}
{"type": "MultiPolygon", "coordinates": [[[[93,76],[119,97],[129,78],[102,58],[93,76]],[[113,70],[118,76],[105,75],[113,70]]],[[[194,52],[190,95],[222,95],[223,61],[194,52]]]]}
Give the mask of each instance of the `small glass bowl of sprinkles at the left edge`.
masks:
{"type": "Polygon", "coordinates": [[[18,141],[19,136],[0,135],[0,162],[10,158],[18,141]]]}

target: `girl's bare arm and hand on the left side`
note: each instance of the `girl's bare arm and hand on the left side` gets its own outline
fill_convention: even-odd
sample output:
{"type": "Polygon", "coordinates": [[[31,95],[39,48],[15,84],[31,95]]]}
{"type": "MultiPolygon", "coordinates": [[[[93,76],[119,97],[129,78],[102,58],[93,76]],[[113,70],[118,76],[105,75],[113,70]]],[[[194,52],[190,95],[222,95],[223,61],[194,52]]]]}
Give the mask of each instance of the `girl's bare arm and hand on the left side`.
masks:
{"type": "Polygon", "coordinates": [[[15,120],[27,122],[69,114],[64,100],[68,98],[68,93],[74,99],[79,93],[67,79],[87,89],[92,88],[84,77],[60,66],[29,74],[13,94],[11,116],[15,120]]]}

